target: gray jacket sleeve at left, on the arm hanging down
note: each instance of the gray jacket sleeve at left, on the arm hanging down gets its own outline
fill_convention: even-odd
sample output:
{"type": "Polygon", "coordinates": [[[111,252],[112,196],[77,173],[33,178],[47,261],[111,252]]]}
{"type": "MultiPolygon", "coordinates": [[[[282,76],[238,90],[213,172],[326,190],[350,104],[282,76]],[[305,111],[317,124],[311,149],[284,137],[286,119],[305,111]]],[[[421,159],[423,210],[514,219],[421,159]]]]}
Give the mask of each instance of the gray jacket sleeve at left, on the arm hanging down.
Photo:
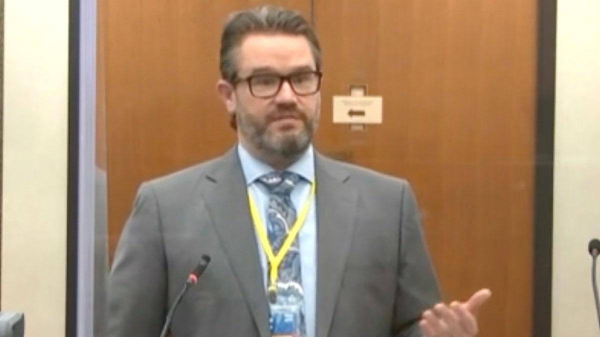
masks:
{"type": "Polygon", "coordinates": [[[166,314],[166,260],[157,197],[150,185],[137,192],[109,276],[109,335],[160,335],[166,314]]]}

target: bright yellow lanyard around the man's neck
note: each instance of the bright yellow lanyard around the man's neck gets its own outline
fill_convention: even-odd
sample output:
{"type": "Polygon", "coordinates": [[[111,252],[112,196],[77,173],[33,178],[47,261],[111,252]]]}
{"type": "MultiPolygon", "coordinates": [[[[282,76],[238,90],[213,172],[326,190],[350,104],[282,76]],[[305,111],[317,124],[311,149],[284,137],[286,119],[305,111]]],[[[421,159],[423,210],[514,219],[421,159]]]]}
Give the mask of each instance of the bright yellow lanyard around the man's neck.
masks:
{"type": "Polygon", "coordinates": [[[277,293],[277,275],[279,270],[279,265],[281,261],[283,261],[283,257],[286,256],[287,251],[289,251],[292,243],[298,235],[302,224],[304,224],[304,220],[308,214],[308,209],[310,208],[310,203],[314,197],[314,191],[316,189],[316,183],[312,182],[310,184],[310,194],[302,207],[300,209],[300,213],[298,214],[298,218],[296,218],[296,222],[294,222],[292,229],[287,233],[286,239],[281,245],[281,248],[277,252],[277,255],[273,254],[273,249],[271,248],[271,244],[269,243],[269,237],[266,234],[265,227],[260,220],[260,215],[258,209],[256,207],[256,203],[254,202],[254,198],[250,193],[250,188],[248,188],[248,203],[250,203],[250,214],[252,216],[252,222],[254,223],[254,228],[256,229],[256,233],[259,235],[260,245],[265,251],[266,257],[269,261],[269,299],[273,302],[275,299],[275,295],[277,293]]]}

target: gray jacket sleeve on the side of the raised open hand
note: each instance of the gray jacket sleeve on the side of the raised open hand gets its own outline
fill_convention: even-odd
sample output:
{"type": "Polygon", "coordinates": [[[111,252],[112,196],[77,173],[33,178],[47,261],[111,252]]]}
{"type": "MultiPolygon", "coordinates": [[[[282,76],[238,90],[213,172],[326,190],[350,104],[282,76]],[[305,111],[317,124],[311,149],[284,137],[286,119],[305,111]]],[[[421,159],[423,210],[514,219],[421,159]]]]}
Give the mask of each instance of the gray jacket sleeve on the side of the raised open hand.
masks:
{"type": "Polygon", "coordinates": [[[422,312],[440,301],[434,268],[425,245],[415,195],[406,183],[401,204],[400,256],[392,333],[421,337],[422,312]]]}

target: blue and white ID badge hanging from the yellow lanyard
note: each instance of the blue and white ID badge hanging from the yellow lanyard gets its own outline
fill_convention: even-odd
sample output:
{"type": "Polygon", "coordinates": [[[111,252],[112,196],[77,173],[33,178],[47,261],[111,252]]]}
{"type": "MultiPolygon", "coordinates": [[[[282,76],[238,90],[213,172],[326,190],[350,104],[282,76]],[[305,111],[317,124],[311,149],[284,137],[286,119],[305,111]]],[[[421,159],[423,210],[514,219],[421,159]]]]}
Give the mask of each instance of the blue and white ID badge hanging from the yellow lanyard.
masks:
{"type": "Polygon", "coordinates": [[[295,291],[278,287],[277,303],[271,303],[269,328],[272,337],[302,337],[304,327],[304,300],[295,291]],[[287,290],[287,291],[286,291],[287,290]]]}

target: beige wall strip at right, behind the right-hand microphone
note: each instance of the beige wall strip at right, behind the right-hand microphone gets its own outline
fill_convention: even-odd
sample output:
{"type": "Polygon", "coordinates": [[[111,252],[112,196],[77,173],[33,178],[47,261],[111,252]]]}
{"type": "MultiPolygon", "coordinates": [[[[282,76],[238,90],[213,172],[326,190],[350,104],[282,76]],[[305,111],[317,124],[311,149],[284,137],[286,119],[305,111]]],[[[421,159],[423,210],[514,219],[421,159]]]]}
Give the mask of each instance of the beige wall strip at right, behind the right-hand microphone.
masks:
{"type": "Polygon", "coordinates": [[[600,237],[600,1],[559,0],[553,336],[597,336],[587,243],[600,237]]]}

